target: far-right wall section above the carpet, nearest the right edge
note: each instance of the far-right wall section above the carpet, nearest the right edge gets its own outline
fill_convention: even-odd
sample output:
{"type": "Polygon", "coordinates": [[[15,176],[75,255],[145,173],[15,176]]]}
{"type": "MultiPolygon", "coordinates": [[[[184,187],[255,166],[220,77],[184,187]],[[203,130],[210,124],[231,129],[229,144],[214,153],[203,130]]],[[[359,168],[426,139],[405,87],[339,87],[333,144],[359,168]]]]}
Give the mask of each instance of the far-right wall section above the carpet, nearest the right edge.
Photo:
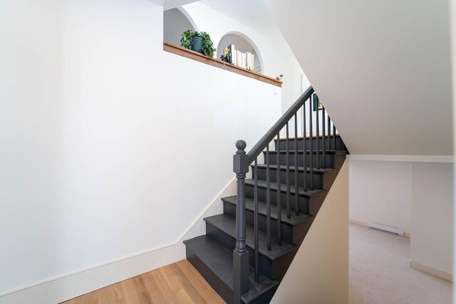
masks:
{"type": "Polygon", "coordinates": [[[453,165],[412,165],[410,261],[443,273],[453,268],[453,165]]]}

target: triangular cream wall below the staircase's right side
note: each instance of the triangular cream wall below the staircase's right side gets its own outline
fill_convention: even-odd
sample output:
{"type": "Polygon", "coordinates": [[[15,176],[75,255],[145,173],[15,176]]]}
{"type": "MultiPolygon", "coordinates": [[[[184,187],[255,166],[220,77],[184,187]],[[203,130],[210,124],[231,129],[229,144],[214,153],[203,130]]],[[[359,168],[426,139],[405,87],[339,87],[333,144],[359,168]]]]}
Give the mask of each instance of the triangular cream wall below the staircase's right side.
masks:
{"type": "Polygon", "coordinates": [[[271,303],[348,303],[348,171],[345,162],[271,303]]]}

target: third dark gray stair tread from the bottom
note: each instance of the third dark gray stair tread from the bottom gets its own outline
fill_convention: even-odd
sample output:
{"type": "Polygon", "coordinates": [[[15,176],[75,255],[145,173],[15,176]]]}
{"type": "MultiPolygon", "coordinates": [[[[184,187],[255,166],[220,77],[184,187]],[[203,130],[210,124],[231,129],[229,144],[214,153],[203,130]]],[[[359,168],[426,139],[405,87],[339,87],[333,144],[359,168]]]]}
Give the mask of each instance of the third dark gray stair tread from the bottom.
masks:
{"type": "MultiPolygon", "coordinates": [[[[232,204],[232,205],[236,206],[237,205],[237,196],[234,195],[234,196],[223,197],[222,201],[225,201],[228,204],[232,204]]],[[[255,210],[254,199],[246,197],[245,198],[245,208],[247,210],[254,211],[255,210]]],[[[266,216],[266,202],[258,201],[258,213],[266,216]]],[[[277,219],[277,206],[274,204],[271,204],[271,218],[277,219]]],[[[293,210],[291,210],[291,217],[290,217],[290,219],[288,219],[286,217],[286,208],[281,209],[282,223],[289,224],[291,226],[296,226],[296,225],[304,223],[306,221],[311,221],[312,219],[314,219],[314,216],[311,216],[310,214],[304,214],[303,212],[300,212],[299,215],[297,216],[293,210]]]]}

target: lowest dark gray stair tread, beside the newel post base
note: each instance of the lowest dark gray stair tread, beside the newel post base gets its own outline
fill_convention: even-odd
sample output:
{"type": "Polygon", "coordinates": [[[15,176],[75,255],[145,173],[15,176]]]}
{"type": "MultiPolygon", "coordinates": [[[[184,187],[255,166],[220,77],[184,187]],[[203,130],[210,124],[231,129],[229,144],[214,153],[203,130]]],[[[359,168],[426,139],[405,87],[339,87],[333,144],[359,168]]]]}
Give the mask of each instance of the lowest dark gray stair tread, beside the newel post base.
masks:
{"type": "MultiPolygon", "coordinates": [[[[214,241],[207,235],[184,241],[210,270],[233,289],[233,253],[214,241]]],[[[259,281],[254,281],[254,269],[249,267],[249,291],[242,296],[244,303],[249,303],[259,295],[279,285],[278,281],[271,281],[259,273],[259,281]]]]}

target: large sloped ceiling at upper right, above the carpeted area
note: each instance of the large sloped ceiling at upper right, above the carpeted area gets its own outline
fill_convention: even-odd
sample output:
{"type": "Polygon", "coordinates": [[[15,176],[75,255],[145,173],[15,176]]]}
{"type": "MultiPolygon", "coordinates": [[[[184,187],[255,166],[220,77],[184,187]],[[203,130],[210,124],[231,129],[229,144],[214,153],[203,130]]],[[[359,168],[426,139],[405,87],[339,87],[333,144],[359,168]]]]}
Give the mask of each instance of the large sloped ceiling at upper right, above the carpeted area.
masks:
{"type": "Polygon", "coordinates": [[[352,154],[452,154],[448,1],[264,3],[352,154]]]}

